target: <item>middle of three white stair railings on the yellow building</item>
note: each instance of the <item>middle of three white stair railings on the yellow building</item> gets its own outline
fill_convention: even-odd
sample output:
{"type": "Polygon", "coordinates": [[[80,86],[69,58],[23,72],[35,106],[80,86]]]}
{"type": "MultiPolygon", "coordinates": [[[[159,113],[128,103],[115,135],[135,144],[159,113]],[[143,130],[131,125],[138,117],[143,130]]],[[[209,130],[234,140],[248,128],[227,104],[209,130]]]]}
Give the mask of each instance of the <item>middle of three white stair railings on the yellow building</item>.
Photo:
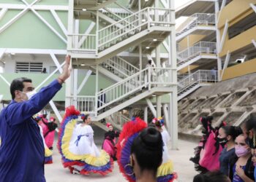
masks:
{"type": "Polygon", "coordinates": [[[177,53],[179,58],[177,64],[187,62],[200,54],[216,54],[216,42],[209,41],[199,41],[197,44],[194,44],[192,47],[188,47],[186,50],[177,53]]]}

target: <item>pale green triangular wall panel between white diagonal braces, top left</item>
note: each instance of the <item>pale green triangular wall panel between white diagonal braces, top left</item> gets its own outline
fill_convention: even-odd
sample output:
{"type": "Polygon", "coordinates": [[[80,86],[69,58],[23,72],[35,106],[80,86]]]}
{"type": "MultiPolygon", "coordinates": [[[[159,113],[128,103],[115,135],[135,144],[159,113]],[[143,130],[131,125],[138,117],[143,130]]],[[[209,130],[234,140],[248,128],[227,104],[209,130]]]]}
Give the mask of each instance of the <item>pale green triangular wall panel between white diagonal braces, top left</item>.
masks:
{"type": "MultiPolygon", "coordinates": [[[[54,24],[54,21],[52,19],[50,24],[54,24]]],[[[26,12],[0,33],[0,47],[65,50],[67,45],[33,12],[26,12]]]]}

